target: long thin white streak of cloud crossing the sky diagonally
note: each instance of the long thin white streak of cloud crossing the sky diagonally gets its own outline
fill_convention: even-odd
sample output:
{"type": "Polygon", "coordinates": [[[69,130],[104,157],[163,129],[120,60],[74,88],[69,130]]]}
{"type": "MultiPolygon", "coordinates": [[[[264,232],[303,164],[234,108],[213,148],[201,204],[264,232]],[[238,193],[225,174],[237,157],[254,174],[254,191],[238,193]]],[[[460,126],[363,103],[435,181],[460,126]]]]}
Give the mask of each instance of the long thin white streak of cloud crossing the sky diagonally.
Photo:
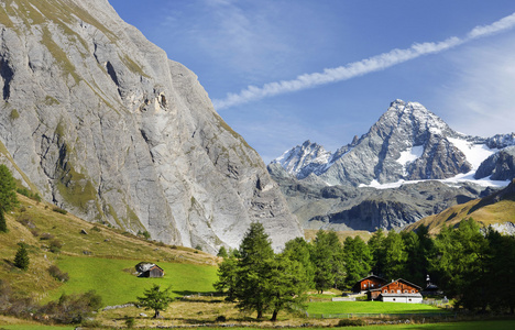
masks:
{"type": "Polygon", "coordinates": [[[406,50],[395,48],[388,53],[383,53],[370,58],[350,63],[344,66],[327,68],[321,73],[299,75],[297,78],[292,80],[269,82],[262,87],[249,86],[239,94],[228,94],[224,99],[213,100],[213,105],[216,109],[221,110],[271,96],[298,91],[325,84],[348,80],[373,72],[386,69],[394,65],[420,57],[423,55],[440,53],[461,45],[465,42],[513,29],[513,26],[515,26],[515,13],[490,25],[474,28],[468,33],[465,38],[452,36],[442,42],[428,42],[421,44],[417,43],[406,50]]]}

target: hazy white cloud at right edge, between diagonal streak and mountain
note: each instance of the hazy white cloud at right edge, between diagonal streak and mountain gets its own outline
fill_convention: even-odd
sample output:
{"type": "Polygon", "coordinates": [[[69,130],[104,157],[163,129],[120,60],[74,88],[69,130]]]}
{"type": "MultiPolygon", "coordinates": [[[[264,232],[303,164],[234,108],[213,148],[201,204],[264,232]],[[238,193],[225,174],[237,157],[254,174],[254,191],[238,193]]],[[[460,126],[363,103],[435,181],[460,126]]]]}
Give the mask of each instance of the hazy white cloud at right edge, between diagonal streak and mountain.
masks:
{"type": "Polygon", "coordinates": [[[513,35],[452,54],[456,78],[439,92],[446,121],[467,134],[515,131],[515,41],[513,35]]]}

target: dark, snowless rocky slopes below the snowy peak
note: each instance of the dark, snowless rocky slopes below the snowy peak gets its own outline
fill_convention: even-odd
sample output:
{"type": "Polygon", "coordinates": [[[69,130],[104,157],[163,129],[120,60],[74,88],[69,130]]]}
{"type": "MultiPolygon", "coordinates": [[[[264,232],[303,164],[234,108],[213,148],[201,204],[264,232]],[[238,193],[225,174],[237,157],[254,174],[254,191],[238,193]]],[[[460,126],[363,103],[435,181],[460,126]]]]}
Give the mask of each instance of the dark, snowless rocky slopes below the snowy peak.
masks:
{"type": "Polygon", "coordinates": [[[306,229],[401,229],[451,206],[493,193],[491,188],[472,184],[450,187],[437,180],[391,189],[327,186],[298,180],[280,164],[269,165],[269,172],[306,229]]]}

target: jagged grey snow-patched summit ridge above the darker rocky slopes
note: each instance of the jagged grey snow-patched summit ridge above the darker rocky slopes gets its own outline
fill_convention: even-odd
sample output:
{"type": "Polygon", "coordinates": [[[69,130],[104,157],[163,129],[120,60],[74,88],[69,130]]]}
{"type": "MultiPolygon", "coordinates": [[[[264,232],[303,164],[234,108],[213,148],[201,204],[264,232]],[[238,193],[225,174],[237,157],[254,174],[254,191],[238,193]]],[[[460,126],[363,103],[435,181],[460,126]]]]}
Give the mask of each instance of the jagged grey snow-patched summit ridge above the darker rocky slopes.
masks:
{"type": "Polygon", "coordinates": [[[298,179],[313,173],[328,185],[381,185],[470,174],[508,145],[515,145],[515,133],[461,134],[423,105],[397,99],[366,134],[333,154],[306,141],[274,163],[298,179]]]}

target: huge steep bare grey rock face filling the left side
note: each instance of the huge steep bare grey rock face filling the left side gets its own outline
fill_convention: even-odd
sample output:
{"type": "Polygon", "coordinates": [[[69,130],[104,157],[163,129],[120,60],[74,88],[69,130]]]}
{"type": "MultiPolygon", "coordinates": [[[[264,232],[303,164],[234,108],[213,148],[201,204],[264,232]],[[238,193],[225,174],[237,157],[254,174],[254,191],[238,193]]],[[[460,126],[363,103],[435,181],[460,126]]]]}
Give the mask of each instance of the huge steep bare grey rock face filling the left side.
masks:
{"type": "Polygon", "coordinates": [[[2,162],[46,200],[210,252],[251,221],[276,249],[302,234],[197,77],[107,0],[2,1],[0,23],[2,162]]]}

